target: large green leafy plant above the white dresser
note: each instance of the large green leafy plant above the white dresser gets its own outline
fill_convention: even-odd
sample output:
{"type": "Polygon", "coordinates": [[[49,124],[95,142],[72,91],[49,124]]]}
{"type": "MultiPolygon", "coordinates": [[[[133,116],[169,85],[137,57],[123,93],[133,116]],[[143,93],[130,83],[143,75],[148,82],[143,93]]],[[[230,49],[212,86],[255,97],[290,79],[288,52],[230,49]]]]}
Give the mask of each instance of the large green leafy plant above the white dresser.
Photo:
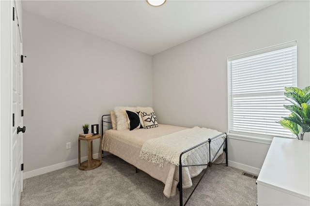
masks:
{"type": "Polygon", "coordinates": [[[304,134],[310,132],[310,86],[304,89],[288,87],[285,91],[284,95],[293,104],[284,107],[292,113],[289,117],[282,117],[278,123],[293,132],[297,139],[303,140],[304,134]]]}

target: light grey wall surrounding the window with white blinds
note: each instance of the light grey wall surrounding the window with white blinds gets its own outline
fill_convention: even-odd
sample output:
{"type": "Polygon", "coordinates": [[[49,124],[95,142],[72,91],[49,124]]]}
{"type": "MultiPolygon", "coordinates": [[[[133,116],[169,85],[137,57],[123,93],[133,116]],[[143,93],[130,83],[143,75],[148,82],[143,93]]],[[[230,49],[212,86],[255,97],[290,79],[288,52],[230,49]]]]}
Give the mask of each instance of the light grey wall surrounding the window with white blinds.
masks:
{"type": "MultiPolygon", "coordinates": [[[[153,56],[158,121],[227,132],[227,57],[292,40],[298,87],[309,86],[309,13],[309,1],[282,1],[153,56]]],[[[230,165],[258,173],[269,144],[229,139],[230,165]]]]}

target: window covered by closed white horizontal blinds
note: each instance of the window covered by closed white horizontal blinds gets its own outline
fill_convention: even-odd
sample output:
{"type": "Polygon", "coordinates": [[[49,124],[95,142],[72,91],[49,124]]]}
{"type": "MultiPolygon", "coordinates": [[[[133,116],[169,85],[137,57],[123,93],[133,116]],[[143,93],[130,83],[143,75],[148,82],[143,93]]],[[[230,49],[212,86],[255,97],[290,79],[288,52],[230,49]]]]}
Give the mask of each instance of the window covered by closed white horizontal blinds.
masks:
{"type": "Polygon", "coordinates": [[[297,86],[296,41],[228,58],[229,132],[292,137],[276,123],[290,112],[284,87],[297,86]]]}

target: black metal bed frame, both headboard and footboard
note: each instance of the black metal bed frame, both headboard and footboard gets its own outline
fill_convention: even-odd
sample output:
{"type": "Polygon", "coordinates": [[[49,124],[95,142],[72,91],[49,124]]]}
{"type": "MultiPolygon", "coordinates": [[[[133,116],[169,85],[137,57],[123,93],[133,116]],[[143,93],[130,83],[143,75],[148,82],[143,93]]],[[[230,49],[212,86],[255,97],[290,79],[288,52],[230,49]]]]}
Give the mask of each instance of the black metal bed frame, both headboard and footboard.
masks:
{"type": "MultiPolygon", "coordinates": [[[[104,122],[107,122],[107,123],[110,123],[109,121],[105,121],[103,118],[104,117],[107,117],[107,116],[110,116],[110,115],[103,115],[101,117],[101,140],[103,138],[103,123],[104,122]]],[[[221,147],[219,147],[219,149],[217,150],[217,153],[220,151],[220,149],[223,147],[223,145],[225,144],[225,147],[223,147],[223,151],[225,152],[225,156],[226,156],[226,163],[225,165],[228,166],[228,150],[227,150],[227,133],[226,132],[223,132],[221,134],[218,134],[217,136],[215,137],[212,137],[212,138],[209,138],[208,140],[194,146],[194,147],[191,147],[185,151],[183,151],[181,154],[180,154],[180,159],[179,159],[179,183],[177,185],[177,188],[179,189],[179,194],[180,194],[180,206],[185,206],[189,200],[189,198],[192,196],[192,194],[194,193],[194,191],[196,190],[196,188],[198,187],[199,183],[201,182],[202,178],[204,177],[207,169],[209,167],[212,167],[212,162],[214,161],[215,157],[217,156],[217,153],[214,155],[214,158],[212,159],[211,161],[211,142],[212,140],[214,140],[215,138],[219,137],[219,136],[222,136],[222,135],[225,135],[225,139],[221,145],[221,147]],[[196,147],[199,147],[203,144],[206,144],[206,143],[209,143],[209,162],[207,164],[194,164],[194,165],[182,165],[182,155],[185,154],[186,152],[196,148],[196,147]],[[183,205],[183,187],[182,187],[182,167],[191,167],[191,166],[203,166],[203,165],[208,165],[208,167],[204,170],[203,174],[202,174],[202,177],[200,177],[198,183],[196,184],[195,188],[193,189],[193,191],[190,193],[190,195],[188,196],[188,198],[186,199],[186,202],[185,204],[183,205]]],[[[103,150],[101,150],[101,155],[102,155],[102,158],[103,158],[103,150]]],[[[136,167],[136,173],[138,173],[138,168],[136,167]]]]}

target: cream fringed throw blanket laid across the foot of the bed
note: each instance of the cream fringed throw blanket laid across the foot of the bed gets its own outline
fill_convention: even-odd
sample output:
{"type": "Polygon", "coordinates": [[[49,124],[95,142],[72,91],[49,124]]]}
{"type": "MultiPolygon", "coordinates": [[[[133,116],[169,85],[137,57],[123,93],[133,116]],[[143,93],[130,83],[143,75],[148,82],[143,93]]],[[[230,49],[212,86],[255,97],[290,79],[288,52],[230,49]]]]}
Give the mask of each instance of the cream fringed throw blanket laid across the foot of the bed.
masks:
{"type": "MultiPolygon", "coordinates": [[[[164,162],[179,165],[180,154],[200,143],[217,136],[221,132],[207,128],[194,127],[146,141],[140,151],[140,157],[163,166],[164,162]]],[[[208,144],[208,143],[207,143],[208,144]]],[[[211,143],[212,145],[212,143],[211,143]]],[[[186,159],[194,152],[192,149],[182,155],[186,159]]]]}

